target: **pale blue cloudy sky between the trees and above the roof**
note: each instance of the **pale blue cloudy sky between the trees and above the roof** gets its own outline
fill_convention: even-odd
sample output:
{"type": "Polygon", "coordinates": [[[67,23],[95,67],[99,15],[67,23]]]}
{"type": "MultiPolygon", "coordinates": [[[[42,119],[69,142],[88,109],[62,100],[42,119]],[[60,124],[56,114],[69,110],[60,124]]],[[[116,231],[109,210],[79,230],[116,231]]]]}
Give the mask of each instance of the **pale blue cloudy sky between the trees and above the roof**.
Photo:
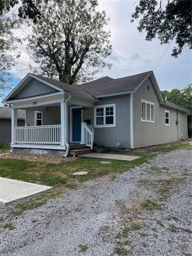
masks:
{"type": "MultiPolygon", "coordinates": [[[[97,77],[110,76],[120,78],[136,73],[154,70],[168,45],[161,45],[158,38],[146,41],[146,33],[137,30],[138,21],[131,23],[137,1],[135,0],[98,0],[97,11],[105,10],[110,18],[106,30],[111,31],[112,54],[107,61],[112,68],[98,73],[97,77]]],[[[192,83],[192,52],[185,47],[175,59],[171,56],[174,42],[156,69],[155,76],[160,90],[183,88],[192,83]]],[[[19,63],[11,70],[12,85],[16,86],[24,76],[31,72],[27,68],[29,56],[22,52],[19,63]]],[[[8,95],[10,90],[4,92],[8,95]]]]}

